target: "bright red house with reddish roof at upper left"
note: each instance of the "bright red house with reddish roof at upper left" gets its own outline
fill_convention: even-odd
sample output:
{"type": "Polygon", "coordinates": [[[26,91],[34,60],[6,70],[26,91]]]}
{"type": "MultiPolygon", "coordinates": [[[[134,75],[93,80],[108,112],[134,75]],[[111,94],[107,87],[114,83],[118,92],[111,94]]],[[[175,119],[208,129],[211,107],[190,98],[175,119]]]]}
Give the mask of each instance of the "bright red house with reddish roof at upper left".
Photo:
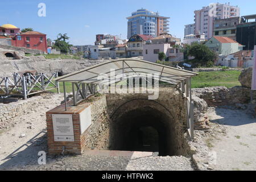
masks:
{"type": "Polygon", "coordinates": [[[28,31],[20,35],[14,36],[12,46],[25,47],[29,49],[38,49],[47,52],[46,34],[36,31],[28,31]]]}

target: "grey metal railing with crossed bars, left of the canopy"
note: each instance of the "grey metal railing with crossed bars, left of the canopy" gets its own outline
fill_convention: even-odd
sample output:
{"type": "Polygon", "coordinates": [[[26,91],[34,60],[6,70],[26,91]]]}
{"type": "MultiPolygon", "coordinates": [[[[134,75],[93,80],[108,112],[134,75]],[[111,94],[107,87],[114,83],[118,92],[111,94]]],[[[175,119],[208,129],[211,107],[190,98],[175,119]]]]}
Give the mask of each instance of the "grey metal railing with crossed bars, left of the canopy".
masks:
{"type": "Polygon", "coordinates": [[[53,81],[58,77],[58,73],[40,73],[38,75],[32,75],[26,73],[20,76],[18,73],[14,73],[13,77],[0,77],[0,97],[23,97],[27,99],[28,96],[40,92],[45,92],[52,89],[59,90],[59,83],[53,81]]]}

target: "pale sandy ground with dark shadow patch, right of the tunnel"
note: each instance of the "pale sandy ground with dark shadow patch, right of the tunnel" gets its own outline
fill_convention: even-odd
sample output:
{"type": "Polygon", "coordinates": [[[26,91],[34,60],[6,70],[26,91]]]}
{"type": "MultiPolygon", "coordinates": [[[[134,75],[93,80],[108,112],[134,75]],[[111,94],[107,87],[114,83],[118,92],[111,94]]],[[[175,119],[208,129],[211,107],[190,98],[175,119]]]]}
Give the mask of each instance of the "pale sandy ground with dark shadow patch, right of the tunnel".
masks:
{"type": "Polygon", "coordinates": [[[226,136],[217,136],[212,143],[217,153],[215,169],[256,170],[256,118],[230,107],[217,107],[209,118],[226,127],[226,136]]]}

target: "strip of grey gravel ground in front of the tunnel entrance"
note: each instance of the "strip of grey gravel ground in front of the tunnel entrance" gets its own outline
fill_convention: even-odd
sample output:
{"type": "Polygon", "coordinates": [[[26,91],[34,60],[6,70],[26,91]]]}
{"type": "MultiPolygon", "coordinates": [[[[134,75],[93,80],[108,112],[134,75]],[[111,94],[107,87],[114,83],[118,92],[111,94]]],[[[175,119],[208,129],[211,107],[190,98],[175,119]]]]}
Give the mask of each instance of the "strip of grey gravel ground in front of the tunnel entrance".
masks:
{"type": "Polygon", "coordinates": [[[193,171],[191,159],[184,156],[145,157],[131,159],[122,156],[57,156],[47,164],[28,165],[12,170],[40,171],[193,171]]]}

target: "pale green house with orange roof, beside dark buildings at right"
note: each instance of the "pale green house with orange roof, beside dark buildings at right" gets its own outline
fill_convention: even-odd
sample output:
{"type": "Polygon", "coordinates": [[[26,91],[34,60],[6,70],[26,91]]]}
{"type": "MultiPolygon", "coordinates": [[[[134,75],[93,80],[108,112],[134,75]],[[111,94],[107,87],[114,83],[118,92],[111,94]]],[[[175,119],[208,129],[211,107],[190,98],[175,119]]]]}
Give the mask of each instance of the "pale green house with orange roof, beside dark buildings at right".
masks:
{"type": "Polygon", "coordinates": [[[241,51],[244,47],[236,42],[236,40],[225,36],[213,36],[205,43],[205,46],[222,56],[228,56],[234,52],[241,51]]]}

